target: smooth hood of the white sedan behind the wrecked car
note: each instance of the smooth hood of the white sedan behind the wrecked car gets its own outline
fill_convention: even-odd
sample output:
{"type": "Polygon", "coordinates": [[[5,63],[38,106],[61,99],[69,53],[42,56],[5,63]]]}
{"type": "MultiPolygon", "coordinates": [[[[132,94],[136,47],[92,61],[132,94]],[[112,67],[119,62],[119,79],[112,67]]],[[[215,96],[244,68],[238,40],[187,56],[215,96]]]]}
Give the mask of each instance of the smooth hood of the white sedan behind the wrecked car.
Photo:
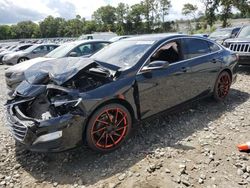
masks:
{"type": "Polygon", "coordinates": [[[44,61],[47,61],[47,60],[52,60],[52,59],[53,58],[46,58],[46,57],[38,57],[38,58],[30,59],[28,61],[24,61],[22,63],[16,64],[16,65],[8,68],[6,70],[6,73],[24,72],[25,70],[27,70],[32,65],[35,65],[37,63],[44,62],[44,61]]]}

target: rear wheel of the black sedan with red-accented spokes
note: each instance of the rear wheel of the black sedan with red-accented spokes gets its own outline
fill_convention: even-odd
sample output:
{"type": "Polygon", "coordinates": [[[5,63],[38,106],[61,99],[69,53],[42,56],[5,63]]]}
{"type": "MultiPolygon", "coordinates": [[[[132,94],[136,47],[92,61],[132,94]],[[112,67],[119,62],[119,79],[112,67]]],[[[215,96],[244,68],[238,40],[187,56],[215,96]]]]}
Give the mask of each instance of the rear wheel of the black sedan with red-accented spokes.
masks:
{"type": "Polygon", "coordinates": [[[221,72],[214,86],[213,98],[218,102],[223,101],[228,96],[231,83],[230,74],[227,71],[221,72]]]}

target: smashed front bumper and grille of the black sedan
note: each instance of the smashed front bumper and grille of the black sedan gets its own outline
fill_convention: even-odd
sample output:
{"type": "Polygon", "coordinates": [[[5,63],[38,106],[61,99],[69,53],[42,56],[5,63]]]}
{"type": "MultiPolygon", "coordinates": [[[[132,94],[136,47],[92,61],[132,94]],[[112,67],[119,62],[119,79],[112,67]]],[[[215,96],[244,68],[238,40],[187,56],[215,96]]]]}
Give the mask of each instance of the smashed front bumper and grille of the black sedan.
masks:
{"type": "Polygon", "coordinates": [[[48,120],[25,116],[18,105],[6,107],[11,135],[31,151],[59,152],[82,144],[85,118],[65,114],[48,120]]]}

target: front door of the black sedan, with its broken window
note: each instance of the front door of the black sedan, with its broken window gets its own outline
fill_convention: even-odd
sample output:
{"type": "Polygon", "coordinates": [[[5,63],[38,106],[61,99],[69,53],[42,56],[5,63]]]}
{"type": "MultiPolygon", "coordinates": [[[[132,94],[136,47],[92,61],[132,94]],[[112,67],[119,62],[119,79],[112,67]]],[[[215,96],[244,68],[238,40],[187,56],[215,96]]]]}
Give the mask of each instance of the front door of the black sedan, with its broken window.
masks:
{"type": "MultiPolygon", "coordinates": [[[[167,68],[140,71],[136,76],[142,119],[190,99],[189,65],[182,59],[181,41],[174,42],[178,44],[178,59],[174,62],[168,61],[167,68]]],[[[166,61],[169,58],[172,57],[166,57],[166,61]]]]}

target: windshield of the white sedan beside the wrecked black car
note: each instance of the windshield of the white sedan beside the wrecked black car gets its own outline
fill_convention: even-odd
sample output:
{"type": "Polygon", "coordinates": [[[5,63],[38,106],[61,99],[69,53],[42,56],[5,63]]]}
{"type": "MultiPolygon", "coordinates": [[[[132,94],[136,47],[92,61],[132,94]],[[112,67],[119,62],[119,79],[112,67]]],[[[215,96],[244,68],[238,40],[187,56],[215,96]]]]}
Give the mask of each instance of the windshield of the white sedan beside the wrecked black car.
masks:
{"type": "Polygon", "coordinates": [[[65,57],[76,45],[74,43],[68,43],[59,46],[55,50],[52,50],[45,57],[48,58],[61,58],[65,57]]]}

